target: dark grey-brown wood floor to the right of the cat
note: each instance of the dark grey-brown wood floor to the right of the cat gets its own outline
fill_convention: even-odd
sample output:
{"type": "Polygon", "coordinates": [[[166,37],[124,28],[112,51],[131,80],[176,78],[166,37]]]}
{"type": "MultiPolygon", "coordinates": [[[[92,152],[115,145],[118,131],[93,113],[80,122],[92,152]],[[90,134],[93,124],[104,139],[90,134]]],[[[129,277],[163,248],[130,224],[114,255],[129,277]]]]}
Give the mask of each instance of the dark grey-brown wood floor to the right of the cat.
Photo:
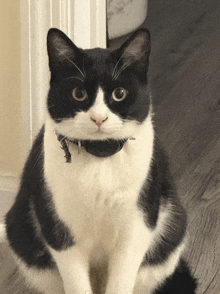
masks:
{"type": "Polygon", "coordinates": [[[197,293],[219,294],[220,1],[149,0],[143,26],[155,126],[188,211],[187,259],[197,293]]]}

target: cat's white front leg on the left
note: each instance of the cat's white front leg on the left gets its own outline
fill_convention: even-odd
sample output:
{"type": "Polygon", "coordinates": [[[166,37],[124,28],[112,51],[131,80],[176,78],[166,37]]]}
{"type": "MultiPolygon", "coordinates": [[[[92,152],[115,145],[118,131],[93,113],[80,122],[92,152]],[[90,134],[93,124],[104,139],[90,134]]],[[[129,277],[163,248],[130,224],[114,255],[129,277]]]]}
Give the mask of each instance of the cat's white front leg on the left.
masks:
{"type": "Polygon", "coordinates": [[[65,294],[92,294],[87,252],[74,245],[61,252],[52,250],[52,254],[63,280],[65,294]]]}

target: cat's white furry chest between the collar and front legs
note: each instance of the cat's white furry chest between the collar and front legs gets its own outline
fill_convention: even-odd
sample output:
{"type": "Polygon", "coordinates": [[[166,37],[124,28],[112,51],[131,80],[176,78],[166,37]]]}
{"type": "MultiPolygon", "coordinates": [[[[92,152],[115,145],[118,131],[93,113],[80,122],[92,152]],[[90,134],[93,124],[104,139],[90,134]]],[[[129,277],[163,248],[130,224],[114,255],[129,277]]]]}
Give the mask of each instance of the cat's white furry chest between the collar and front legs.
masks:
{"type": "Polygon", "coordinates": [[[139,214],[136,201],[152,150],[139,150],[136,145],[131,141],[117,154],[97,158],[85,150],[78,153],[77,146],[70,144],[72,161],[68,163],[50,124],[45,126],[44,174],[56,212],[78,236],[93,232],[87,243],[90,238],[92,242],[108,240],[110,235],[114,239],[118,224],[139,214]]]}

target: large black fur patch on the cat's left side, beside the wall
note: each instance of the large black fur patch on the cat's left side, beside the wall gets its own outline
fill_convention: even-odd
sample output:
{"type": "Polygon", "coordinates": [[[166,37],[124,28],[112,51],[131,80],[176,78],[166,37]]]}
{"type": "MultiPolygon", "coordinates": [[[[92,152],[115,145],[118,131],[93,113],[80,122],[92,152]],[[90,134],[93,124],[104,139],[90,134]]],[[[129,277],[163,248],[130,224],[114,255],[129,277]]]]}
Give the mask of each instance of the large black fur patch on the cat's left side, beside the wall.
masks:
{"type": "Polygon", "coordinates": [[[43,137],[44,128],[26,162],[16,201],[6,215],[10,246],[27,265],[38,268],[55,265],[47,243],[55,250],[74,245],[68,228],[54,212],[43,180],[43,137]]]}

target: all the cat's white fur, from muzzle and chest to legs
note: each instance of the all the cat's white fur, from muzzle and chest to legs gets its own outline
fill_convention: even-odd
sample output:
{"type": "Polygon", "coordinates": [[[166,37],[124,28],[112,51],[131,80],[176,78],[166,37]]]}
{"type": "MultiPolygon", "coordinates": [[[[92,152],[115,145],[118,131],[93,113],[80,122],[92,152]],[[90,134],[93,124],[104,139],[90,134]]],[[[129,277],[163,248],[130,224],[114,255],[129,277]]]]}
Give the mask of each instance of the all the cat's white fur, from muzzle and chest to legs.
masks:
{"type": "MultiPolygon", "coordinates": [[[[65,294],[92,293],[90,267],[108,264],[106,291],[102,294],[150,294],[174,271],[182,246],[164,264],[139,270],[146,251],[153,240],[164,233],[164,223],[172,213],[170,207],[161,210],[157,228],[150,230],[136,205],[150,168],[153,138],[151,115],[141,125],[135,121],[122,122],[105,105],[101,89],[88,112],[81,112],[60,124],[47,118],[45,179],[56,212],[76,242],[65,251],[50,248],[64,282],[65,294]],[[108,119],[98,127],[91,116],[107,116],[108,119]],[[120,152],[107,158],[94,157],[84,149],[78,154],[77,146],[70,143],[72,162],[66,163],[57,132],[72,139],[135,137],[135,140],[128,140],[120,152]]],[[[33,273],[36,284],[36,272],[33,273]]],[[[43,277],[56,285],[56,278],[53,280],[50,273],[40,275],[40,280],[43,277]]],[[[41,283],[43,288],[46,285],[41,283]]],[[[54,287],[52,292],[45,288],[44,291],[46,294],[61,293],[56,289],[54,287]]]]}

